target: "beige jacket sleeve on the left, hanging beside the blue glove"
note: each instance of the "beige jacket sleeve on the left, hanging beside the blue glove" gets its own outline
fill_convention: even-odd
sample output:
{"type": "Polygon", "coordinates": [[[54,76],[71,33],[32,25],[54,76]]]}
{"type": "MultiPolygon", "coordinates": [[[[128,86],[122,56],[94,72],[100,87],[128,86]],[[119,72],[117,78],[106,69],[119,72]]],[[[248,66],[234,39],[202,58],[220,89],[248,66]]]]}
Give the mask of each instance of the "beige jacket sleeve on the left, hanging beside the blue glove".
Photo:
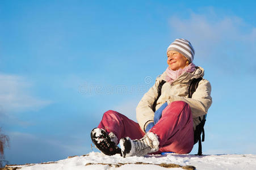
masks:
{"type": "Polygon", "coordinates": [[[154,122],[153,103],[158,96],[158,85],[160,81],[156,80],[148,92],[142,97],[136,108],[136,118],[142,130],[145,131],[146,126],[150,122],[154,122]]]}

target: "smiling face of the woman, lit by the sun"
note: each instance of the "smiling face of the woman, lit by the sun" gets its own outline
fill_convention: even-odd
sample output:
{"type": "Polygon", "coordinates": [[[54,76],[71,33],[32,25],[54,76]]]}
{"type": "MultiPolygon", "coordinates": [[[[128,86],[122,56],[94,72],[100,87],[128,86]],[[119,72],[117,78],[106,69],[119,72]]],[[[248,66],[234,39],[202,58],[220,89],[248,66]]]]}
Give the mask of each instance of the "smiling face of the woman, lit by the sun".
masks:
{"type": "Polygon", "coordinates": [[[170,50],[167,52],[167,64],[171,70],[175,71],[183,69],[189,64],[189,62],[181,53],[170,50]]]}

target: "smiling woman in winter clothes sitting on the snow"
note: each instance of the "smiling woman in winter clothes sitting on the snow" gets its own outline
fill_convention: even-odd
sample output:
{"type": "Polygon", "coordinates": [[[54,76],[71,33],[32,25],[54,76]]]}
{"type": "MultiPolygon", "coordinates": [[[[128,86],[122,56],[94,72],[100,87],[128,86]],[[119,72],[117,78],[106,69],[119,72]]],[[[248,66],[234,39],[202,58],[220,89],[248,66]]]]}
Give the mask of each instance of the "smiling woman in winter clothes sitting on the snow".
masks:
{"type": "Polygon", "coordinates": [[[139,124],[123,114],[107,111],[98,128],[91,131],[95,146],[106,155],[124,157],[160,152],[189,153],[194,146],[196,125],[212,104],[211,84],[205,79],[200,80],[192,97],[188,97],[192,80],[204,76],[204,69],[192,63],[194,54],[189,41],[176,39],[172,42],[167,48],[167,69],[137,105],[139,124]],[[158,96],[162,80],[166,83],[161,84],[158,96]],[[117,147],[119,142],[121,148],[117,147]]]}

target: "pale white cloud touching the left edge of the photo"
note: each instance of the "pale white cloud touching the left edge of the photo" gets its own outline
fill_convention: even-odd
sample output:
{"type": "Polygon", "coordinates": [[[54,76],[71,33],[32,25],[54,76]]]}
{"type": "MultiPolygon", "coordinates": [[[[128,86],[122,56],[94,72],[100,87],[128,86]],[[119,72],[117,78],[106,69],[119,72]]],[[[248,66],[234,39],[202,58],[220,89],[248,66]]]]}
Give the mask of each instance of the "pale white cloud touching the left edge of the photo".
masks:
{"type": "Polygon", "coordinates": [[[51,104],[51,101],[32,96],[31,87],[22,76],[0,73],[0,112],[31,111],[51,104]]]}

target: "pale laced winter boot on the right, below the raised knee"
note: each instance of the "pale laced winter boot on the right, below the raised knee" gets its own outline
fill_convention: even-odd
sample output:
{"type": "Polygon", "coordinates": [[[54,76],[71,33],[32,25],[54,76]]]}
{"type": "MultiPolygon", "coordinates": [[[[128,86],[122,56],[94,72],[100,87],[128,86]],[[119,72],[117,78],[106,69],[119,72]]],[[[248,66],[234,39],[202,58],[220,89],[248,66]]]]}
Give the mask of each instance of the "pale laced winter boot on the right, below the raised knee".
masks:
{"type": "Polygon", "coordinates": [[[149,132],[140,140],[132,140],[129,137],[120,140],[120,147],[123,157],[144,156],[158,151],[159,141],[157,135],[149,132]]]}

